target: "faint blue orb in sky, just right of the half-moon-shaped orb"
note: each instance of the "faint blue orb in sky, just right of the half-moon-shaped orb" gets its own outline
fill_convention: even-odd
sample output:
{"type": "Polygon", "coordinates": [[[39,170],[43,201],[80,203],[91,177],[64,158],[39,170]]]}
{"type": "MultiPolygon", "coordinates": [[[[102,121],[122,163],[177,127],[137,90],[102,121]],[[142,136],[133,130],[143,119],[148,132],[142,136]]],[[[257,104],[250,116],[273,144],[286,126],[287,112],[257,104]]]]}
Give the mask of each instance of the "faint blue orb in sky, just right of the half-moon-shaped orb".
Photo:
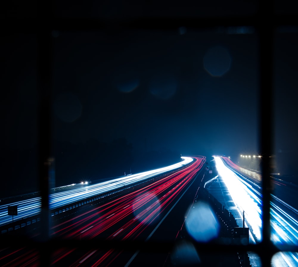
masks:
{"type": "Polygon", "coordinates": [[[177,90],[176,79],[169,74],[154,76],[149,84],[150,93],[159,99],[170,99],[177,90]]]}

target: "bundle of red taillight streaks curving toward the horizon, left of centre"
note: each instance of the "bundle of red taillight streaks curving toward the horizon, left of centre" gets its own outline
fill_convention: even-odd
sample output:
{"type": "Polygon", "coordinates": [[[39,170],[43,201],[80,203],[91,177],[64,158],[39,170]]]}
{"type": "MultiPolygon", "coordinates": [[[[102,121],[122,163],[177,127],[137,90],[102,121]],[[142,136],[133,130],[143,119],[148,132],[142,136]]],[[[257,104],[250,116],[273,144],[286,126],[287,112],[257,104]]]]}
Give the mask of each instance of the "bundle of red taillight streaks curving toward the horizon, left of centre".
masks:
{"type": "MultiPolygon", "coordinates": [[[[187,186],[190,186],[189,184],[193,181],[198,170],[202,168],[204,162],[205,159],[196,158],[195,163],[187,169],[178,170],[145,188],[97,207],[95,215],[80,215],[80,219],[77,218],[75,224],[72,223],[72,220],[64,221],[52,228],[53,234],[63,238],[80,239],[101,235],[107,235],[106,238],[108,239],[117,238],[120,240],[139,238],[147,227],[152,227],[155,225],[153,223],[161,220],[161,214],[167,208],[173,207],[173,202],[178,202],[179,194],[185,191],[187,186]],[[113,230],[111,231],[111,229],[113,230]]],[[[151,235],[152,233],[146,240],[151,235]]],[[[113,249],[103,254],[93,255],[93,252],[89,251],[82,256],[83,259],[86,259],[85,266],[88,266],[88,260],[93,256],[96,257],[96,262],[92,266],[105,266],[105,263],[109,265],[120,254],[119,251],[113,249]]],[[[60,255],[55,257],[62,258],[60,255]]],[[[83,264],[82,261],[80,263],[83,264]]]]}

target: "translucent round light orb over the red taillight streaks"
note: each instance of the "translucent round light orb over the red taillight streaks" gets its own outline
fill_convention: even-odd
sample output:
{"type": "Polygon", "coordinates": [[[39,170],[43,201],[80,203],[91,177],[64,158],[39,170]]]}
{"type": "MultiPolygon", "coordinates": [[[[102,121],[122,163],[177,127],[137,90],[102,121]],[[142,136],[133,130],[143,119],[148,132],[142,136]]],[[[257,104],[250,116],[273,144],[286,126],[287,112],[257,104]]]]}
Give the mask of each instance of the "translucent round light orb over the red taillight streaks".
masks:
{"type": "Polygon", "coordinates": [[[150,224],[159,218],[161,206],[158,197],[151,192],[139,194],[133,203],[134,219],[142,224],[150,224]]]}

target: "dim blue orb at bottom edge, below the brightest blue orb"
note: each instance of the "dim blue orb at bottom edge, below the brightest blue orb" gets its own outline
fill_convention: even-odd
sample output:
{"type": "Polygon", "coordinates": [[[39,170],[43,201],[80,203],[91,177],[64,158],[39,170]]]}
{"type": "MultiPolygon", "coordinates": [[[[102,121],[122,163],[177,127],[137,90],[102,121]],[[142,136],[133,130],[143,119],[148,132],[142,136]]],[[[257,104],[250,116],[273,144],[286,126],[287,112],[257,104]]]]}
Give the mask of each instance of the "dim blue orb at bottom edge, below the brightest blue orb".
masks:
{"type": "Polygon", "coordinates": [[[179,243],[171,253],[173,266],[198,266],[201,260],[194,245],[183,241],[179,243]]]}

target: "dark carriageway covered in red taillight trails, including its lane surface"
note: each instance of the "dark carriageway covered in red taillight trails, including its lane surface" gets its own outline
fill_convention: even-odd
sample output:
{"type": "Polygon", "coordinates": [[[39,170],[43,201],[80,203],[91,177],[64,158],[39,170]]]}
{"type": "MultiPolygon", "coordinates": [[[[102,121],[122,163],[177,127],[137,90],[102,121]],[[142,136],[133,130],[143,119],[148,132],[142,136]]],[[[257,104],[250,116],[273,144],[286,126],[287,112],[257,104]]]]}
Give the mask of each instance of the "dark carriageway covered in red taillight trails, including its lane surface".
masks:
{"type": "MultiPolygon", "coordinates": [[[[184,160],[187,160],[187,166],[180,170],[177,167],[176,169],[170,168],[174,171],[150,185],[116,197],[105,204],[89,205],[91,208],[86,212],[75,213],[69,218],[53,221],[50,229],[51,236],[62,239],[90,239],[92,242],[113,239],[149,240],[169,217],[174,207],[179,204],[187,190],[191,190],[193,183],[198,181],[196,179],[198,173],[205,171],[203,168],[205,157],[192,157],[184,160]]],[[[168,170],[165,168],[164,172],[168,170]]],[[[155,171],[158,174],[160,172],[160,170],[155,171]]],[[[184,210],[180,217],[181,220],[177,221],[176,229],[179,229],[183,223],[184,210]]],[[[169,235],[172,239],[177,234],[177,230],[175,231],[174,234],[169,235]]],[[[35,266],[38,262],[36,251],[30,249],[21,249],[1,255],[1,266],[35,266]]],[[[114,250],[58,249],[52,255],[52,265],[128,266],[133,264],[137,256],[137,251],[129,254],[114,250]]],[[[165,258],[166,256],[164,255],[165,258]]]]}

